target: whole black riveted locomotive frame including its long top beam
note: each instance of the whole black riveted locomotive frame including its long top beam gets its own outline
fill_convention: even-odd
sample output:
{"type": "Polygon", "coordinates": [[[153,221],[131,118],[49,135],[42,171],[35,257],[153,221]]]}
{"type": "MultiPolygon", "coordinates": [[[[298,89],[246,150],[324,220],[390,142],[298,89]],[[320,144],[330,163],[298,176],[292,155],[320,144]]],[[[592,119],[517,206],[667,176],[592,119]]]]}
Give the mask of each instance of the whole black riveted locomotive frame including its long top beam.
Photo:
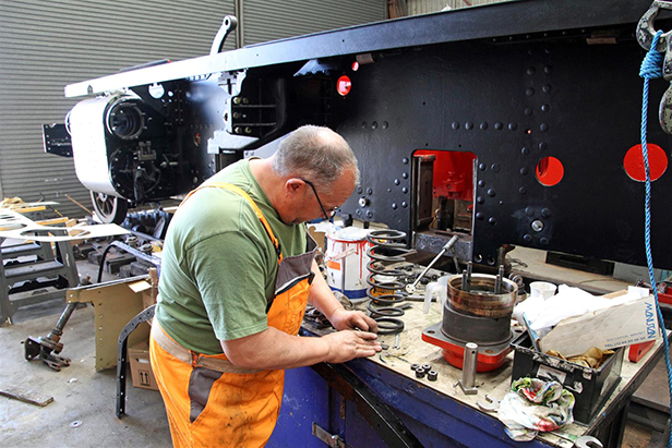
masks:
{"type": "MultiPolygon", "coordinates": [[[[637,73],[645,52],[634,32],[648,5],[648,0],[506,2],[286,39],[83,84],[97,92],[144,80],[134,88],[141,95],[149,83],[181,80],[178,106],[161,106],[173,123],[170,147],[180,157],[181,174],[173,182],[179,189],[212,172],[206,146],[240,154],[301,124],[327,124],[348,140],[362,172],[361,185],[340,209],[346,217],[415,231],[413,153],[470,152],[477,157],[476,262],[493,265],[502,245],[518,244],[644,265],[644,186],[625,173],[623,158],[639,141],[637,73]],[[355,55],[362,52],[371,52],[364,59],[373,62],[353,71],[355,55]],[[346,97],[335,89],[343,74],[352,82],[346,97]],[[257,109],[256,121],[237,122],[232,113],[242,109],[235,101],[244,105],[245,98],[257,109]],[[200,142],[196,130],[203,130],[200,142]],[[212,145],[203,143],[208,138],[212,145]],[[548,156],[564,167],[554,186],[535,175],[548,156]],[[360,205],[362,196],[367,201],[360,205]]],[[[669,29],[670,21],[657,26],[669,29]]],[[[664,81],[651,83],[651,117],[667,87],[664,81]]],[[[153,102],[146,94],[144,99],[153,102]]],[[[649,128],[649,141],[670,155],[671,138],[657,124],[649,128]]],[[[665,235],[672,214],[663,196],[671,183],[668,173],[652,189],[658,267],[672,267],[665,235]]]]}

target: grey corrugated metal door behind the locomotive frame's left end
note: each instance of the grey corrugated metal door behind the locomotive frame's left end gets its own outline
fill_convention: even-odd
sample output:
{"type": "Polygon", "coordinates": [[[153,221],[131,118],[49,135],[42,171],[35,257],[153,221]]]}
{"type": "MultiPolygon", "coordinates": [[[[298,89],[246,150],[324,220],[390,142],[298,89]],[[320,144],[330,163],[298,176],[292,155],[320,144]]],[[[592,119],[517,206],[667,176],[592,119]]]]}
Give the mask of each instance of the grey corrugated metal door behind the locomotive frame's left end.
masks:
{"type": "MultiPolygon", "coordinates": [[[[209,52],[233,0],[0,0],[0,194],[91,208],[72,159],[43,152],[41,124],[62,123],[79,99],[63,87],[158,59],[209,52]]],[[[232,48],[233,39],[229,39],[232,48]]]]}

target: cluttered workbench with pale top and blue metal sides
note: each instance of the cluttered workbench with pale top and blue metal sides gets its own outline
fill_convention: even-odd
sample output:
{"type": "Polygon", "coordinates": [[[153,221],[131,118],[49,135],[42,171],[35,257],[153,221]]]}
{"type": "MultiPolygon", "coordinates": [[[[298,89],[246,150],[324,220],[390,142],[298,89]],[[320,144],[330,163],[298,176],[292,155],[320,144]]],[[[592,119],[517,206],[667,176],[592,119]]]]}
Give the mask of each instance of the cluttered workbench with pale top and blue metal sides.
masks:
{"type": "MultiPolygon", "coordinates": [[[[374,404],[389,407],[423,446],[519,446],[520,443],[504,433],[504,425],[495,412],[483,412],[477,404],[478,398],[485,393],[501,400],[508,392],[514,353],[508,354],[506,363],[499,370],[478,373],[478,396],[466,396],[457,385],[461,371],[447,364],[439,347],[421,340],[422,330],[442,318],[439,304],[432,303],[430,313],[425,315],[421,302],[410,303],[412,307],[401,317],[406,327],[400,334],[398,349],[394,348],[393,335],[380,336],[381,342],[388,346],[387,350],[369,359],[350,361],[338,368],[346,367],[355,374],[361,380],[359,387],[373,391],[374,404]],[[427,363],[439,372],[436,382],[429,382],[427,377],[418,379],[410,368],[411,364],[427,363]]],[[[364,305],[358,304],[357,308],[364,310],[364,305]]],[[[304,323],[301,335],[310,337],[322,332],[304,323]]],[[[605,447],[620,447],[629,398],[661,355],[662,340],[659,339],[638,363],[627,361],[626,356],[621,382],[589,426],[574,423],[562,431],[540,433],[526,446],[572,447],[574,444],[571,440],[581,435],[592,435],[605,447]]],[[[337,374],[332,374],[329,378],[320,365],[317,368],[287,371],[280,416],[268,446],[317,448],[324,447],[323,440],[327,439],[335,447],[391,446],[389,440],[395,437],[392,433],[397,428],[394,425],[379,427],[376,433],[365,420],[371,420],[372,413],[362,403],[367,399],[357,393],[344,393],[339,383],[343,378],[338,378],[337,374]],[[323,440],[314,434],[321,435],[323,440]],[[384,441],[385,436],[387,443],[384,441]]],[[[667,390],[667,387],[661,385],[663,389],[667,390]]]]}

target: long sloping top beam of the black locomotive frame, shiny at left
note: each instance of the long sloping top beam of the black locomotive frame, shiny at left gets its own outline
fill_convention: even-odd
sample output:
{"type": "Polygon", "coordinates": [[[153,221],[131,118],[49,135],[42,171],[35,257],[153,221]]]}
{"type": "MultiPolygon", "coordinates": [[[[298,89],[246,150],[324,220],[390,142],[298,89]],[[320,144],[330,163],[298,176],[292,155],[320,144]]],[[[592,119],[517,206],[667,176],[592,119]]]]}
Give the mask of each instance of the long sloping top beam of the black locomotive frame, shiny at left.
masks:
{"type": "MultiPolygon", "coordinates": [[[[492,39],[636,23],[649,0],[520,0],[404,17],[309,36],[253,45],[212,57],[173,62],[72,84],[65,96],[103,93],[151,82],[236,71],[334,56],[412,48],[448,41],[492,39]]],[[[669,15],[669,14],[668,14],[669,15]]],[[[661,14],[661,17],[664,16],[661,14]]]]}

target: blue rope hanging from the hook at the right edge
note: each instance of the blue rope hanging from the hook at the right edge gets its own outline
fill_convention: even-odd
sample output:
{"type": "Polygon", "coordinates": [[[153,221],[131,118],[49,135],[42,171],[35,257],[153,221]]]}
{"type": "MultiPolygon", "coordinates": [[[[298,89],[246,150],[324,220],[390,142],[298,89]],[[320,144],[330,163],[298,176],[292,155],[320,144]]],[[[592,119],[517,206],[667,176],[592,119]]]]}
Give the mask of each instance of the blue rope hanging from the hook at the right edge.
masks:
{"type": "MultiPolygon", "coordinates": [[[[641,68],[639,69],[639,76],[644,77],[644,92],[641,96],[641,156],[644,157],[644,169],[646,172],[646,204],[644,207],[645,216],[645,247],[646,247],[646,261],[649,267],[649,279],[651,282],[651,289],[653,290],[653,298],[656,298],[656,310],[658,311],[658,323],[662,331],[663,348],[665,351],[665,365],[668,367],[668,385],[670,387],[670,410],[672,411],[672,365],[670,364],[670,347],[668,344],[668,335],[665,332],[665,324],[662,318],[660,305],[658,303],[658,288],[656,287],[656,276],[653,274],[653,256],[651,255],[651,172],[649,170],[649,148],[647,146],[647,125],[648,125],[648,108],[649,108],[649,80],[662,77],[662,61],[663,53],[656,50],[658,40],[660,39],[662,32],[659,31],[653,36],[651,43],[651,49],[646,53],[644,61],[641,61],[641,68]]],[[[668,448],[672,447],[672,431],[668,438],[668,448]]]]}

